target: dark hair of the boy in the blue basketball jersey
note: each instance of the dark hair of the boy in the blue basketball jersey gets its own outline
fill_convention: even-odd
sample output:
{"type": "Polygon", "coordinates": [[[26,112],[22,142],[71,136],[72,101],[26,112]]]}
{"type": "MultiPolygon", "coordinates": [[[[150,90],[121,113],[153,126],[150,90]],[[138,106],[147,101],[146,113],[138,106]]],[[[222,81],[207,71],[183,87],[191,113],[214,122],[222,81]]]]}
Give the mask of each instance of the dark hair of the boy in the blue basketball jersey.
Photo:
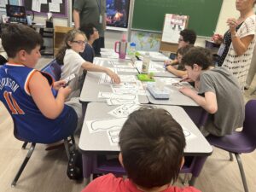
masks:
{"type": "Polygon", "coordinates": [[[43,44],[43,39],[38,32],[29,26],[9,24],[3,28],[2,44],[8,57],[14,58],[21,49],[30,54],[32,49],[43,44]]]}

